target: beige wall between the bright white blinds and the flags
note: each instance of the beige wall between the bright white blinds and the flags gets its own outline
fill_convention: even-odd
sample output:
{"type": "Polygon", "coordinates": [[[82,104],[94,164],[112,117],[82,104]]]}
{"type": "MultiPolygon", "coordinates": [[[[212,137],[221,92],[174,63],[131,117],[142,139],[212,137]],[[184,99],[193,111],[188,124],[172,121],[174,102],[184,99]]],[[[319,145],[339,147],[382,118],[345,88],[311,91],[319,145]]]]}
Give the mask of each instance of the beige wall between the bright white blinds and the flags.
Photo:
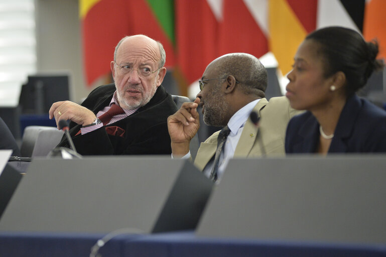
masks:
{"type": "Polygon", "coordinates": [[[78,0],[35,0],[37,72],[69,73],[71,100],[79,102],[91,88],[83,75],[78,0]]]}

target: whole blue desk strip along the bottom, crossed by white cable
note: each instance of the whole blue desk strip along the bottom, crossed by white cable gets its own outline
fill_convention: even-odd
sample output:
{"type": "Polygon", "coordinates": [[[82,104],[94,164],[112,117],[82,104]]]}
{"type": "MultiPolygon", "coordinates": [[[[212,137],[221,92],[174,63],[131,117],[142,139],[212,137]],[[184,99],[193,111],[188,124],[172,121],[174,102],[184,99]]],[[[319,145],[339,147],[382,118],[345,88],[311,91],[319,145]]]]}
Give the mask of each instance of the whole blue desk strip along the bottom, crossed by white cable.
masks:
{"type": "MultiPolygon", "coordinates": [[[[89,256],[100,234],[0,233],[2,256],[89,256]]],[[[119,235],[102,256],[386,256],[386,245],[203,238],[193,232],[119,235]]]]}

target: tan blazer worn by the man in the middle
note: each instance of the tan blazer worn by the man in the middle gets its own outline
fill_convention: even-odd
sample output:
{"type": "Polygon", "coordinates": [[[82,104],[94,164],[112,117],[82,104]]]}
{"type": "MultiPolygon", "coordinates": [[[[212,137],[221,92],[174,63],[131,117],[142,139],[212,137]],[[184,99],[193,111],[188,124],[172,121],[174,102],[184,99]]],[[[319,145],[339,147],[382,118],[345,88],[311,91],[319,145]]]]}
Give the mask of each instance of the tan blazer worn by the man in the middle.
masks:
{"type": "MultiPolygon", "coordinates": [[[[287,124],[290,118],[299,111],[291,108],[285,96],[272,97],[268,102],[261,99],[253,108],[261,117],[259,127],[256,127],[248,118],[245,122],[240,139],[234,151],[233,158],[252,158],[262,156],[284,155],[284,139],[287,124]]],[[[220,132],[215,132],[198,149],[194,164],[201,171],[216,153],[217,137],[220,132]]]]}

